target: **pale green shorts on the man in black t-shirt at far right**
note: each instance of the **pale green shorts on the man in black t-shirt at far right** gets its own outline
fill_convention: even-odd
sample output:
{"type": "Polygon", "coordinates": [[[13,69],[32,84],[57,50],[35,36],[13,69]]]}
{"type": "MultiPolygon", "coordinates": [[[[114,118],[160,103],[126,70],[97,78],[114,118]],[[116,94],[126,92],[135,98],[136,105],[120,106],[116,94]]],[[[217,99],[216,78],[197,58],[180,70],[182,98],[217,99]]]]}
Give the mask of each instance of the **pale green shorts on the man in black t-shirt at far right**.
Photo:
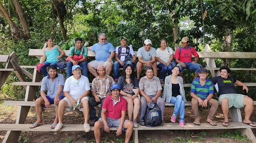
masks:
{"type": "Polygon", "coordinates": [[[222,99],[223,98],[227,98],[229,99],[229,108],[231,108],[232,106],[236,107],[236,108],[243,108],[243,98],[246,95],[243,94],[221,94],[218,101],[219,104],[221,105],[222,99]]]}

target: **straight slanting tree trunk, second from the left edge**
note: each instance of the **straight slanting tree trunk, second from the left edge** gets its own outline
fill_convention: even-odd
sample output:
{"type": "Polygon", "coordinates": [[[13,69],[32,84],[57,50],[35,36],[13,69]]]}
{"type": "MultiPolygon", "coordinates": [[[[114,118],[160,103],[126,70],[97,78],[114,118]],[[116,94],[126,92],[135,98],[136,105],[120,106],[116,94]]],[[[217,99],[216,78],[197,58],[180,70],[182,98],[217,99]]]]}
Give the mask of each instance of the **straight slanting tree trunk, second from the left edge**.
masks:
{"type": "Polygon", "coordinates": [[[20,2],[18,0],[13,0],[13,4],[16,8],[16,11],[18,12],[18,15],[19,15],[19,18],[20,18],[20,22],[21,22],[21,25],[22,25],[22,28],[23,28],[23,32],[25,34],[25,39],[30,39],[30,34],[29,34],[29,29],[28,29],[28,26],[27,26],[27,21],[23,15],[23,12],[22,12],[22,9],[21,9],[21,6],[20,6],[20,2]]]}

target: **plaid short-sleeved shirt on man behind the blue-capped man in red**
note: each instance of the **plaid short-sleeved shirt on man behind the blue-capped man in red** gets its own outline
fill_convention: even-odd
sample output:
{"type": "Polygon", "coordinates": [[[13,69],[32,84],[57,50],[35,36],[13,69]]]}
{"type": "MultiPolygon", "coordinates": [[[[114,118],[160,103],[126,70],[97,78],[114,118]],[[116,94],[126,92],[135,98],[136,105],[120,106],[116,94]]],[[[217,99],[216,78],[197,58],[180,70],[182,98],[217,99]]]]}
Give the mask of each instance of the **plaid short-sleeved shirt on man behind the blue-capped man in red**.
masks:
{"type": "Polygon", "coordinates": [[[115,84],[115,81],[111,76],[105,75],[103,80],[101,80],[100,76],[97,76],[92,82],[91,89],[98,97],[104,98],[107,94],[110,94],[110,87],[112,84],[115,84]]]}

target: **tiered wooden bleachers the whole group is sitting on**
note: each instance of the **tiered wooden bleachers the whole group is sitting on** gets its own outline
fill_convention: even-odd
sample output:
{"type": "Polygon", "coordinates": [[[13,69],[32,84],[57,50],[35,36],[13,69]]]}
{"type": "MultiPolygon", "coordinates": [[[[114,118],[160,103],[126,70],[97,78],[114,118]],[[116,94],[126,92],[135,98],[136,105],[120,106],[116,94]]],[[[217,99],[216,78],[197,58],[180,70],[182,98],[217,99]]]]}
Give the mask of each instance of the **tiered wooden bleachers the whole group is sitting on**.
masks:
{"type": "MultiPolygon", "coordinates": [[[[64,50],[65,51],[65,56],[68,56],[68,50],[64,50]]],[[[137,54],[137,52],[135,52],[137,54]]],[[[212,76],[218,76],[219,75],[219,71],[216,67],[215,61],[214,59],[216,58],[220,58],[220,59],[256,59],[256,53],[251,53],[251,52],[212,52],[209,48],[209,45],[207,45],[205,47],[205,50],[203,52],[198,52],[200,58],[204,58],[206,64],[207,64],[207,69],[210,70],[210,73],[212,76]]],[[[41,49],[31,49],[29,50],[29,56],[36,56],[38,59],[40,59],[43,55],[43,51],[41,49]]],[[[94,57],[95,53],[92,52],[91,50],[88,51],[88,57],[94,57]]],[[[25,101],[33,101],[34,99],[34,95],[35,92],[37,91],[38,86],[40,86],[40,80],[41,80],[41,75],[39,74],[39,72],[36,70],[35,66],[21,66],[22,68],[34,68],[34,74],[33,74],[33,81],[31,83],[27,83],[27,82],[15,82],[13,83],[14,85],[26,85],[26,95],[25,95],[25,101]]],[[[231,70],[256,70],[256,68],[230,68],[231,70]]],[[[162,84],[163,86],[164,84],[162,84]]],[[[247,86],[256,86],[256,83],[246,83],[247,86]]],[[[190,87],[191,84],[185,84],[185,87],[190,87]]],[[[7,103],[5,103],[7,104],[7,103]]],[[[24,124],[25,120],[27,118],[27,113],[30,109],[30,106],[33,106],[31,103],[9,103],[9,104],[13,104],[13,105],[18,105],[19,109],[18,109],[18,115],[17,115],[17,120],[16,120],[16,124],[15,125],[20,125],[20,124],[24,124]]],[[[34,104],[34,103],[33,103],[34,104]]],[[[166,106],[173,106],[173,104],[170,103],[166,103],[166,106]]],[[[191,106],[191,103],[189,105],[189,102],[186,102],[186,106],[191,106]]],[[[237,108],[230,108],[229,110],[229,115],[232,118],[233,122],[229,124],[228,127],[223,127],[221,125],[221,123],[218,123],[218,125],[216,127],[211,126],[209,124],[202,124],[200,126],[195,126],[193,123],[187,123],[185,128],[175,128],[175,126],[178,126],[177,123],[165,123],[164,126],[158,126],[158,127],[154,127],[154,128],[149,128],[149,127],[144,127],[144,126],[139,126],[138,128],[134,129],[134,137],[135,137],[135,143],[138,143],[138,130],[199,130],[199,129],[237,129],[239,131],[241,131],[242,135],[247,135],[247,137],[252,141],[252,142],[256,142],[256,138],[254,136],[254,134],[251,131],[251,127],[248,125],[245,125],[242,122],[242,116],[241,116],[241,112],[240,109],[237,108]],[[234,126],[233,126],[234,125],[234,126]],[[191,127],[191,128],[190,128],[191,127]]],[[[30,124],[29,124],[30,125],[30,124]]],[[[28,126],[29,125],[25,125],[20,127],[20,129],[17,129],[18,126],[13,127],[11,129],[8,129],[7,131],[7,127],[3,127],[4,129],[0,129],[3,131],[7,131],[7,135],[3,140],[3,143],[13,143],[13,142],[17,142],[19,136],[20,136],[20,132],[21,131],[27,131],[28,126]],[[26,129],[25,129],[26,128],[26,129]],[[19,130],[19,131],[17,131],[19,130]]],[[[8,125],[6,125],[8,126],[8,125]]],[[[74,126],[74,125],[71,125],[74,126]]],[[[77,126],[82,126],[81,124],[78,124],[77,126]]],[[[1,127],[1,126],[0,126],[1,127]]],[[[44,131],[44,130],[49,130],[49,126],[48,125],[42,125],[40,127],[37,127],[39,131],[44,131]],[[45,129],[43,129],[45,126],[45,129]],[[40,129],[40,127],[42,129],[40,129]],[[46,129],[47,128],[47,129],[46,129]]],[[[68,125],[67,125],[68,127],[68,125]]],[[[63,128],[64,131],[65,128],[63,128]]],[[[74,129],[69,129],[69,130],[81,130],[84,131],[84,129],[82,127],[77,127],[74,129]],[[81,128],[81,129],[78,129],[81,128]]],[[[92,129],[93,130],[93,129],[92,129]]],[[[114,130],[114,129],[113,129],[114,130]]],[[[35,131],[35,130],[33,130],[35,131]]],[[[61,130],[62,131],[62,130],[61,130]]]]}

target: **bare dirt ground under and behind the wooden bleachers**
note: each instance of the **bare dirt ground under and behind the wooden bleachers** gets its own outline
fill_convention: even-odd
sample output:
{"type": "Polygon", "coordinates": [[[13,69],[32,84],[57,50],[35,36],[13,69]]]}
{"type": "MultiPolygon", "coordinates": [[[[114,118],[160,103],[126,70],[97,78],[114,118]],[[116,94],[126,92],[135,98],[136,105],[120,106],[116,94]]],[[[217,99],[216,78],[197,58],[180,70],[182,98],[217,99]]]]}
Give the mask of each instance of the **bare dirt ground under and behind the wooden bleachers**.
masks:
{"type": "MultiPolygon", "coordinates": [[[[2,103],[5,98],[0,98],[0,124],[15,124],[18,106],[4,106],[2,103]]],[[[209,108],[201,108],[200,113],[203,116],[201,123],[205,122],[209,108]]],[[[251,121],[256,122],[256,109],[251,116],[251,121]]],[[[164,123],[169,123],[173,107],[165,107],[164,123]]],[[[244,112],[242,110],[242,116],[244,112]]],[[[43,112],[43,124],[52,124],[54,120],[54,107],[48,108],[43,112]]],[[[64,124],[83,124],[84,118],[77,112],[65,112],[64,124]]],[[[35,108],[31,107],[25,124],[32,124],[36,121],[35,108]]],[[[137,119],[138,121],[138,119],[137,119]]],[[[194,121],[191,107],[185,108],[185,122],[194,121]]],[[[223,122],[223,116],[218,108],[216,112],[216,122],[223,122]]],[[[231,120],[230,120],[231,121],[231,120]]],[[[0,142],[5,137],[7,131],[0,131],[0,142]]],[[[256,134],[256,129],[253,129],[256,134]]],[[[237,131],[234,130],[201,130],[201,131],[139,131],[140,143],[248,143],[243,141],[243,137],[237,137],[237,131]]],[[[124,141],[125,132],[119,137],[115,136],[115,131],[101,134],[101,143],[121,143],[124,141]]],[[[130,143],[133,143],[133,136],[130,143]]],[[[22,131],[19,139],[20,143],[94,143],[94,133],[90,131],[65,131],[65,132],[39,132],[22,131]]]]}

